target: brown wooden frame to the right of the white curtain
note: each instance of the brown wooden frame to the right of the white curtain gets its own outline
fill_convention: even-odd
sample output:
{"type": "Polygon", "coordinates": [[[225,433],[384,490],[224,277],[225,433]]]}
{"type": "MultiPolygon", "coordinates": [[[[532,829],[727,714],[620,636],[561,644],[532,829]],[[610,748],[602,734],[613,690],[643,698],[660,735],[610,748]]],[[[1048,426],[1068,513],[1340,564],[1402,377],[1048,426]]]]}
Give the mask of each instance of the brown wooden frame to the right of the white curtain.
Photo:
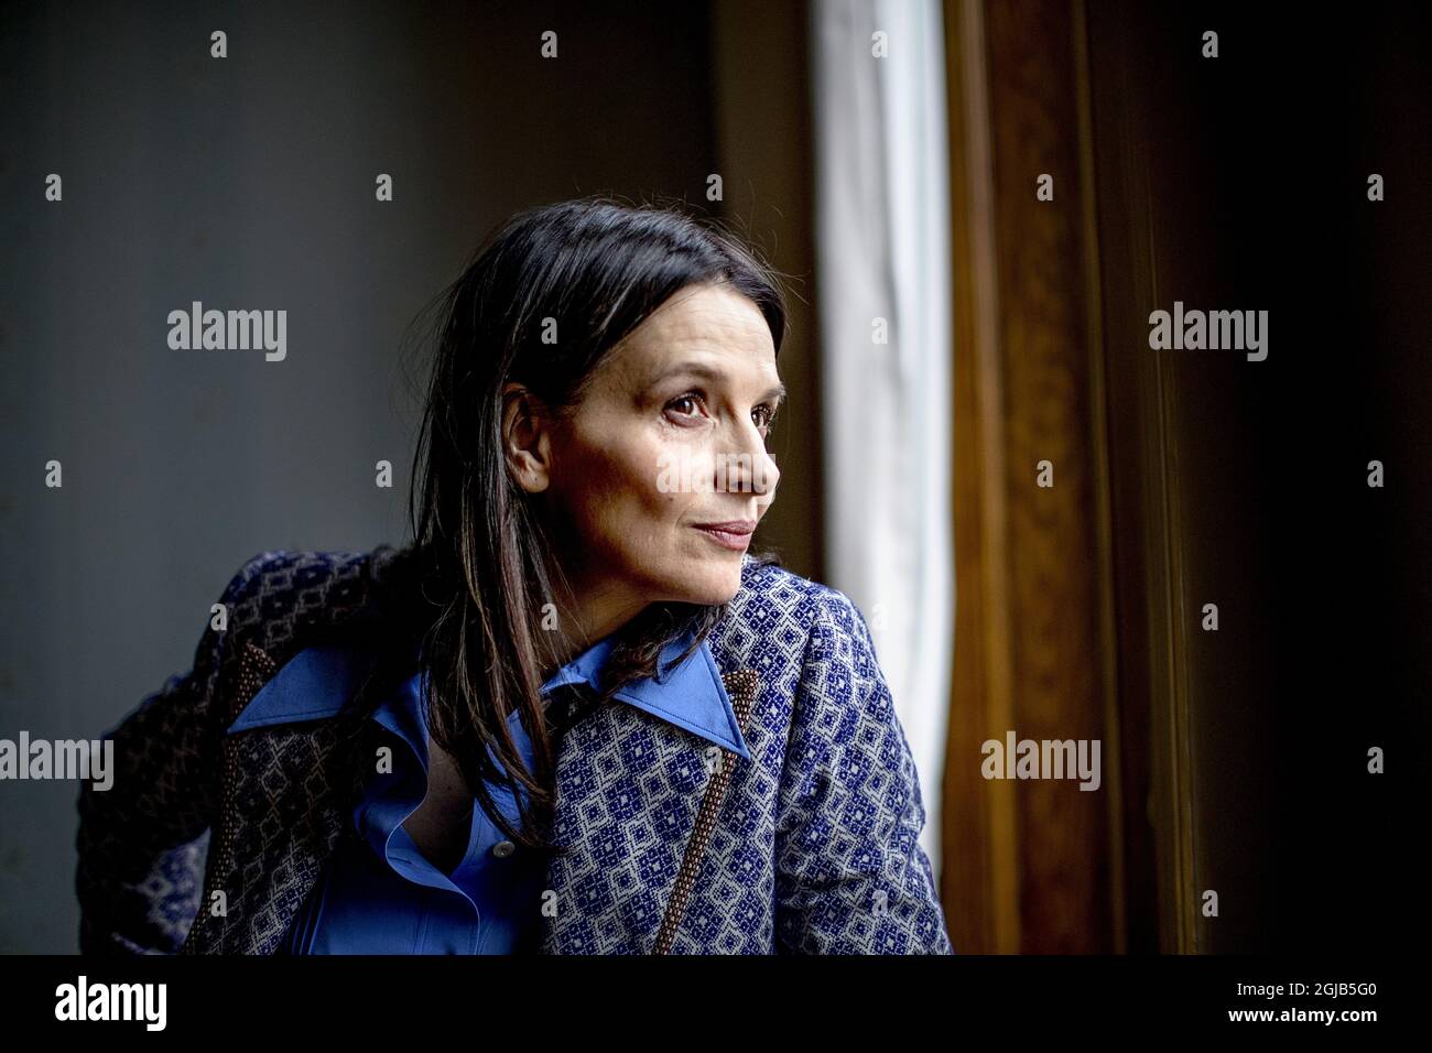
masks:
{"type": "MultiPolygon", "coordinates": [[[[985,782],[969,758],[990,728],[1015,728],[1030,709],[1048,712],[1051,692],[1061,685],[1030,683],[1017,655],[1040,646],[1021,639],[1028,617],[1021,606],[1011,562],[1048,537],[1028,523],[1011,523],[1011,500],[1028,501],[1011,474],[1012,437],[1031,428],[1065,434],[1070,448],[1087,451],[1084,494],[1077,504],[1090,564],[1071,563],[1058,582],[1077,602],[1071,617],[1090,632],[1093,689],[1068,692],[1071,708],[1097,721],[1104,739],[1106,819],[1098,844],[1103,897],[1080,904],[1084,943],[1065,940],[1064,950],[1191,951],[1196,950],[1193,888],[1193,822],[1190,812],[1189,722],[1184,609],[1179,547],[1180,494],[1170,448],[1169,390],[1156,355],[1138,354],[1134,309],[1157,302],[1157,275],[1150,245],[1153,202],[1148,158],[1137,133],[1137,79],[1133,62],[1111,60],[1134,47],[1137,36],[1107,29],[1093,62],[1083,0],[1021,1],[991,6],[985,0],[945,0],[949,66],[951,195],[954,245],[955,407],[952,510],[955,521],[955,669],[945,765],[941,895],[951,910],[957,950],[1017,953],[1040,948],[1041,933],[1030,931],[1050,891],[1031,875],[1035,854],[1064,854],[1077,867],[1077,848],[1044,838],[1020,812],[1008,782],[985,782]],[[991,44],[988,19],[1002,20],[998,46],[991,44]],[[1010,33],[1018,23],[1020,34],[1010,33]],[[1022,36],[1025,27],[1027,36],[1022,36]],[[1025,43],[1027,42],[1027,43],[1025,43]],[[1064,50],[1067,49],[1067,52],[1064,50]],[[1047,63],[1050,54],[1060,62],[1047,63]],[[1048,74],[1018,82],[1021,66],[1048,74]],[[1004,80],[1001,80],[1004,79],[1004,80]],[[1002,89],[1001,89],[1002,85],[1002,89]],[[998,103],[995,96],[998,95],[998,103]],[[992,113],[998,105],[1000,112],[992,113]],[[1051,120],[1051,115],[1068,120],[1051,120]],[[1034,173],[1028,195],[1011,192],[1014,178],[1001,162],[1022,165],[1027,156],[1001,155],[1000,122],[1037,128],[1053,158],[1073,159],[1074,170],[1057,176],[1060,245],[1074,266],[1053,297],[1081,315],[1073,340],[1048,340],[1042,354],[1063,357],[1080,390],[1068,418],[1050,425],[1011,395],[1007,374],[1012,354],[1025,354],[1028,332],[1012,332],[1001,274],[1024,265],[1015,235],[1047,222],[1037,208],[1034,173]],[[997,192],[1000,189],[1001,192],[997,192]],[[1001,234],[1004,241],[1001,242],[1001,234]],[[1011,262],[1014,261],[1014,262],[1011,262]],[[1077,305],[1077,309],[1075,309],[1077,305]],[[1116,324],[1110,324],[1114,319],[1116,324]],[[1131,342],[1134,341],[1134,342],[1131,342]],[[1022,837],[1021,837],[1021,830],[1022,837]],[[1032,832],[1032,837],[1031,837],[1032,832]],[[1032,908],[1031,908],[1032,904],[1032,908]]],[[[1005,129],[1008,132],[1008,129],[1005,129]]],[[[1004,139],[1010,142],[1008,138],[1004,139]]],[[[1054,162],[1051,162],[1054,163],[1054,162]]],[[[1018,185],[1025,173],[1018,173],[1018,185]]],[[[1018,274],[1018,271],[1015,271],[1018,274]]],[[[1061,275],[1064,272],[1061,271],[1061,275]]],[[[1021,295],[1018,289],[1015,297],[1021,295]]],[[[1021,325],[1024,319],[1021,318],[1021,325]]],[[[1034,325],[1040,322],[1035,321],[1034,325]]],[[[1040,334],[1037,334],[1040,335],[1040,334]]],[[[1050,338],[1050,334],[1042,334],[1050,338]]],[[[1144,331],[1146,335],[1146,331],[1144,331]]],[[[1018,362],[1014,362],[1018,364],[1018,362]]],[[[1047,615],[1047,612],[1044,612],[1047,615]]],[[[1068,666],[1060,670],[1070,673],[1068,666]]],[[[1071,675],[1073,676],[1073,675],[1071,675]]],[[[1074,678],[1073,683],[1084,683],[1074,678]]],[[[1085,683],[1087,686],[1087,683],[1085,683]]],[[[1047,860],[1038,860],[1047,868],[1047,860]]]]}

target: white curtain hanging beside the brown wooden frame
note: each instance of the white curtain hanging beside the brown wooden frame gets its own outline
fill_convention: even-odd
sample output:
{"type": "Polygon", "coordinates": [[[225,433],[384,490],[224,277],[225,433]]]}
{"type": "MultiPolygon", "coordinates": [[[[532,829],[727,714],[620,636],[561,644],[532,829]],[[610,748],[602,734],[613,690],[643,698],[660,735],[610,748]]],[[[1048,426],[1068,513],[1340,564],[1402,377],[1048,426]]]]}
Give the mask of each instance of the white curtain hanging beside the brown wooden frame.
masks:
{"type": "Polygon", "coordinates": [[[811,46],[828,585],[871,623],[938,871],[954,649],[941,6],[813,0],[811,46]]]}

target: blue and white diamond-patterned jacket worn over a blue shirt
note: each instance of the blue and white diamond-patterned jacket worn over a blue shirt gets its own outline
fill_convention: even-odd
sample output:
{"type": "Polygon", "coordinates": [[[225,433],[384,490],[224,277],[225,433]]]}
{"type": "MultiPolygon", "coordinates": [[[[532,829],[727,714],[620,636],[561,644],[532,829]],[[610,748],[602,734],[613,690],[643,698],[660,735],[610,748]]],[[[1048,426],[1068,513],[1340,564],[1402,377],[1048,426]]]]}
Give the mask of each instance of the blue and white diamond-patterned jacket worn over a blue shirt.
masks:
{"type": "MultiPolygon", "coordinates": [[[[226,630],[109,732],[113,785],[79,798],[83,953],[278,948],[372,771],[362,702],[382,679],[331,718],[225,731],[305,648],[381,639],[394,554],[259,553],[219,599],[226,630]]],[[[951,954],[915,764],[859,610],[748,554],[707,645],[749,758],[634,706],[576,721],[541,951],[951,954]]]]}

